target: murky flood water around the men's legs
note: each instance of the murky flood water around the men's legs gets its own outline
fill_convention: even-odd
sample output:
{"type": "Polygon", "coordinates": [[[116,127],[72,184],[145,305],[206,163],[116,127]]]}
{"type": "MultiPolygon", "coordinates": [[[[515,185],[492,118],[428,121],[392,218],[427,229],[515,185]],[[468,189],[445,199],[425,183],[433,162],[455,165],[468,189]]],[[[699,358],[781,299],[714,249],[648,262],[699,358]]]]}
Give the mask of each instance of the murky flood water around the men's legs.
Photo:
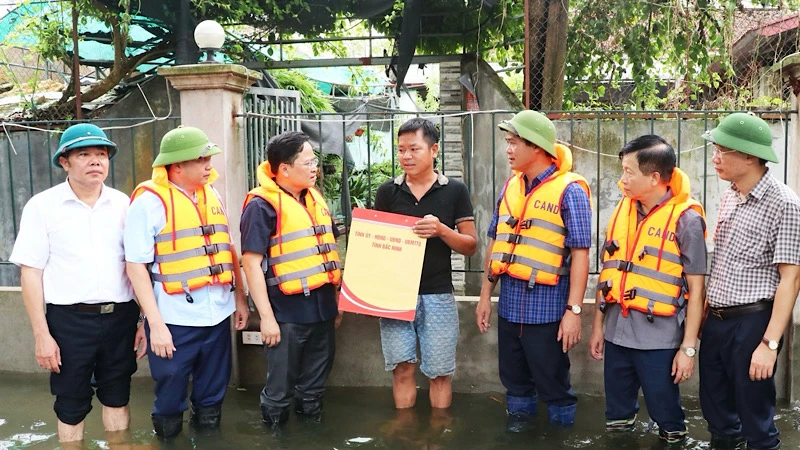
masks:
{"type": "MultiPolygon", "coordinates": [[[[527,433],[505,432],[505,405],[501,393],[455,394],[448,414],[432,414],[427,392],[420,391],[413,410],[398,413],[390,388],[330,388],[321,424],[304,423],[294,414],[279,433],[261,423],[259,388],[231,390],[225,399],[222,428],[194,432],[188,423],[172,442],[163,443],[151,431],[153,394],[150,380],[134,380],[131,395],[131,431],[107,436],[102,408],[86,420],[83,448],[91,449],[666,449],[647,414],[639,414],[637,431],[608,435],[604,431],[604,401],[581,396],[575,426],[554,428],[540,405],[534,427],[527,433]],[[112,442],[117,441],[117,442],[112,442]]],[[[0,450],[59,448],[56,419],[47,377],[0,375],[0,450]]],[[[690,439],[683,448],[708,448],[708,433],[696,399],[684,407],[690,439]]],[[[188,414],[186,415],[188,418],[188,414]]],[[[784,405],[776,416],[783,448],[800,448],[800,407],[784,405]]],[[[80,447],[79,447],[80,448],[80,447]]],[[[674,448],[674,447],[672,447],[674,448]]]]}

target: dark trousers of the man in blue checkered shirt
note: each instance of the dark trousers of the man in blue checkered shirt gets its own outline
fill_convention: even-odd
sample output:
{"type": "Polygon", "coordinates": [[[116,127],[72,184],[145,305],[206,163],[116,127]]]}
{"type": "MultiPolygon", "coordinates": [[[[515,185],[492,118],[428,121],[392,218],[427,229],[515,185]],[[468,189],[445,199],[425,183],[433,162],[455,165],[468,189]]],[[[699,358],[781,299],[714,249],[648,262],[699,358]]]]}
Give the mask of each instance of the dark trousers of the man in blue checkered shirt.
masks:
{"type": "MultiPolygon", "coordinates": [[[[555,406],[577,403],[569,356],[561,350],[559,322],[526,325],[498,318],[500,381],[512,397],[534,397],[555,406]]],[[[512,411],[509,405],[509,412],[512,411]]]]}

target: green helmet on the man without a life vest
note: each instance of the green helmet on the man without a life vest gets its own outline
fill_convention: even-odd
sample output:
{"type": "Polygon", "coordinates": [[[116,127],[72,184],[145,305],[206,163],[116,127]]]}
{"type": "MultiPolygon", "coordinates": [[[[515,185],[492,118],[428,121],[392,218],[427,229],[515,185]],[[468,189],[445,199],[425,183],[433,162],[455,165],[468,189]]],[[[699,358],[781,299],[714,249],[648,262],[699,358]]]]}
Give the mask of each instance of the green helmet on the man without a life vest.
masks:
{"type": "Polygon", "coordinates": [[[772,149],[772,131],[767,122],[747,113],[733,113],[717,128],[703,133],[703,139],[748,155],[778,162],[772,149]]]}

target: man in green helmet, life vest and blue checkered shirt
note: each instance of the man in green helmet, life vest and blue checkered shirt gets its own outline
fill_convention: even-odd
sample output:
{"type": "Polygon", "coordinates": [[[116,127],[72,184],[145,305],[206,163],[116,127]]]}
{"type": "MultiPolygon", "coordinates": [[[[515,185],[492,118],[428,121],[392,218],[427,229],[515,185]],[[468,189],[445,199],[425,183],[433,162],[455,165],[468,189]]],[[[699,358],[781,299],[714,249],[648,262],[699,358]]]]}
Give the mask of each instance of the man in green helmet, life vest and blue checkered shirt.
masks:
{"type": "Polygon", "coordinates": [[[506,132],[513,174],[497,201],[488,236],[486,278],[476,308],[485,333],[491,293],[500,282],[497,348],[506,388],[506,429],[527,429],[541,396],[554,425],[575,422],[567,352],[581,339],[589,275],[592,209],[586,180],[570,171],[572,153],[556,144],[550,119],[525,110],[506,132]]]}

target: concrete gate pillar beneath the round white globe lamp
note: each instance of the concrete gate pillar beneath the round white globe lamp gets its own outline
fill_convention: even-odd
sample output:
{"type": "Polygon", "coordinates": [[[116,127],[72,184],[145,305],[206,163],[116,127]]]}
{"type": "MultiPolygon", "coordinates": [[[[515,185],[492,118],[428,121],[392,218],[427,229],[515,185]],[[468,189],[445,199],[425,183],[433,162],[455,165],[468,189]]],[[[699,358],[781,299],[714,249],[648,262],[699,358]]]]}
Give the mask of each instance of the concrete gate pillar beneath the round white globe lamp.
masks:
{"type": "MultiPolygon", "coordinates": [[[[222,149],[222,153],[211,157],[220,174],[214,187],[228,211],[231,239],[238,245],[241,207],[247,194],[244,118],[239,114],[244,110],[244,93],[262,76],[237,64],[164,67],[158,70],[158,74],[180,91],[181,123],[205,131],[211,142],[222,149]]],[[[240,370],[236,344],[239,333],[231,327],[231,335],[231,385],[238,386],[240,370]]]]}

